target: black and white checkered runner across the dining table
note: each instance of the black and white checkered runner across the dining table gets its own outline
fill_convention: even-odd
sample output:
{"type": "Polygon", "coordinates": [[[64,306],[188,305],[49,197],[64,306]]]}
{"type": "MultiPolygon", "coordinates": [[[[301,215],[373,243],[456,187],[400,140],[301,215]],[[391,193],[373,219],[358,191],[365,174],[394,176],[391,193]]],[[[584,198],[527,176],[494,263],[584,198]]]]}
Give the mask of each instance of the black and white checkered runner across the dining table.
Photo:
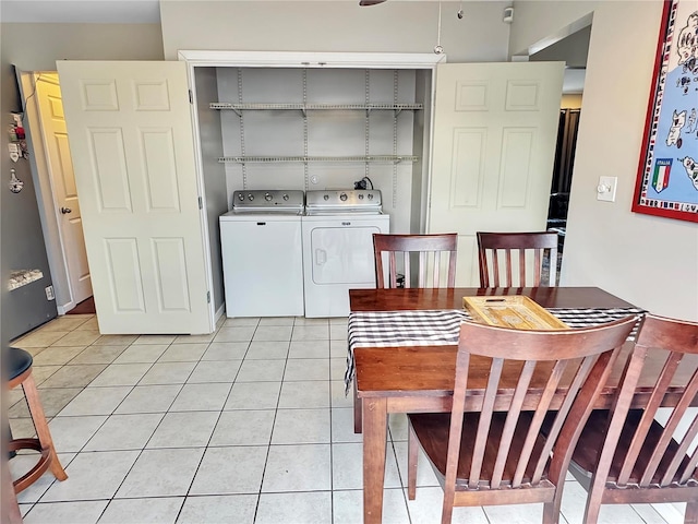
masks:
{"type": "MultiPolygon", "coordinates": [[[[569,327],[588,327],[645,313],[638,308],[573,309],[551,308],[551,313],[569,327]]],[[[353,380],[353,350],[357,347],[448,346],[458,344],[460,323],[472,320],[465,310],[361,311],[349,314],[345,385],[353,380]]],[[[630,333],[635,338],[637,326],[630,333]]]]}

